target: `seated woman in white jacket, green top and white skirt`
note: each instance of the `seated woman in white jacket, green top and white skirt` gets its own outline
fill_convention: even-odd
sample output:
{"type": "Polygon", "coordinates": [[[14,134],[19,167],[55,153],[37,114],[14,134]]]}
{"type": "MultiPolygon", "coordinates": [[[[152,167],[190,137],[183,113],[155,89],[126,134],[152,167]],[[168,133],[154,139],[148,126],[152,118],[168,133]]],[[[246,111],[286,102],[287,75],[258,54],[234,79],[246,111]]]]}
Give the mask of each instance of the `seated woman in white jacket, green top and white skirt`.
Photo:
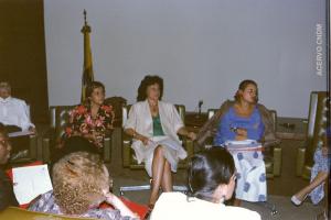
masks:
{"type": "Polygon", "coordinates": [[[150,208],[163,191],[172,190],[171,170],[177,172],[179,160],[186,157],[178,134],[195,139],[188,132],[175,107],[161,101],[163,79],[159,76],[146,76],[138,89],[137,103],[129,112],[125,132],[134,138],[138,163],[145,162],[149,176],[152,177],[150,208]]]}

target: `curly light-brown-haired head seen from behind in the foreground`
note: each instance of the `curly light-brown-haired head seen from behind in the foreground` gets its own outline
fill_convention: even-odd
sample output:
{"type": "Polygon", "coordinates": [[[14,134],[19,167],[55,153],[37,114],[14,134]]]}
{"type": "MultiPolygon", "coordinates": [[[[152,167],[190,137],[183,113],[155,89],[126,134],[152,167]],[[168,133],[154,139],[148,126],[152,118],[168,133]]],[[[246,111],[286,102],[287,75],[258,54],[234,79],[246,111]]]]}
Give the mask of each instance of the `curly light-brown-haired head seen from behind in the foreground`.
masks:
{"type": "Polygon", "coordinates": [[[109,193],[109,174],[97,154],[74,152],[62,157],[53,166],[52,178],[55,201],[63,213],[85,213],[109,193]]]}

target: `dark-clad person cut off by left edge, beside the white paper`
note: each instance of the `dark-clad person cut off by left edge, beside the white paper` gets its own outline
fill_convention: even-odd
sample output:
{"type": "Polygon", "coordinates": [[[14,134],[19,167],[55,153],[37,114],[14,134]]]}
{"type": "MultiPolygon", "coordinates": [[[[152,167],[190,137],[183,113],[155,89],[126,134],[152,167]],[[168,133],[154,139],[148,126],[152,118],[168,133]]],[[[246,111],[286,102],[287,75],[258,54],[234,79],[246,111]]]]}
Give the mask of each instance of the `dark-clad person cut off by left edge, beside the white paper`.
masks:
{"type": "Polygon", "coordinates": [[[11,180],[4,172],[4,165],[10,157],[11,146],[6,131],[6,127],[0,123],[0,211],[9,206],[19,206],[13,194],[11,180]]]}

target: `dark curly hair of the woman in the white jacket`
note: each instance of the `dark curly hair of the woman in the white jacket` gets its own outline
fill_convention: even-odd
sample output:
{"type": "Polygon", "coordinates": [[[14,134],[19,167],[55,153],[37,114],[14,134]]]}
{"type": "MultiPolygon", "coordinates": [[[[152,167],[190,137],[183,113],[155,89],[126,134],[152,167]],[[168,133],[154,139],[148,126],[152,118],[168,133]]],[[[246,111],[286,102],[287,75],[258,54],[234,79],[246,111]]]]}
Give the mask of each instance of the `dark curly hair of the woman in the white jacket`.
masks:
{"type": "Polygon", "coordinates": [[[163,96],[163,79],[157,75],[151,76],[147,75],[140,82],[140,86],[138,88],[138,96],[137,96],[137,101],[143,101],[147,98],[147,87],[158,84],[160,87],[160,98],[159,100],[162,99],[163,96]]]}

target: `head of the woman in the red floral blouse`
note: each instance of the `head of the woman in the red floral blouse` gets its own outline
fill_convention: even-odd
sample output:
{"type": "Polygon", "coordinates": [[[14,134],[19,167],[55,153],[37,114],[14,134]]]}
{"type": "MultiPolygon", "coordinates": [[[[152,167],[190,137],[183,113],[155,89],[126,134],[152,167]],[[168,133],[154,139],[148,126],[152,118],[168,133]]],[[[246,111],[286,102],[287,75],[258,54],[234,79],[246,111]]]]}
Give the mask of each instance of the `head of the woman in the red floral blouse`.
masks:
{"type": "Polygon", "coordinates": [[[99,81],[92,81],[86,88],[86,98],[90,105],[103,105],[105,101],[106,89],[99,81]]]}

